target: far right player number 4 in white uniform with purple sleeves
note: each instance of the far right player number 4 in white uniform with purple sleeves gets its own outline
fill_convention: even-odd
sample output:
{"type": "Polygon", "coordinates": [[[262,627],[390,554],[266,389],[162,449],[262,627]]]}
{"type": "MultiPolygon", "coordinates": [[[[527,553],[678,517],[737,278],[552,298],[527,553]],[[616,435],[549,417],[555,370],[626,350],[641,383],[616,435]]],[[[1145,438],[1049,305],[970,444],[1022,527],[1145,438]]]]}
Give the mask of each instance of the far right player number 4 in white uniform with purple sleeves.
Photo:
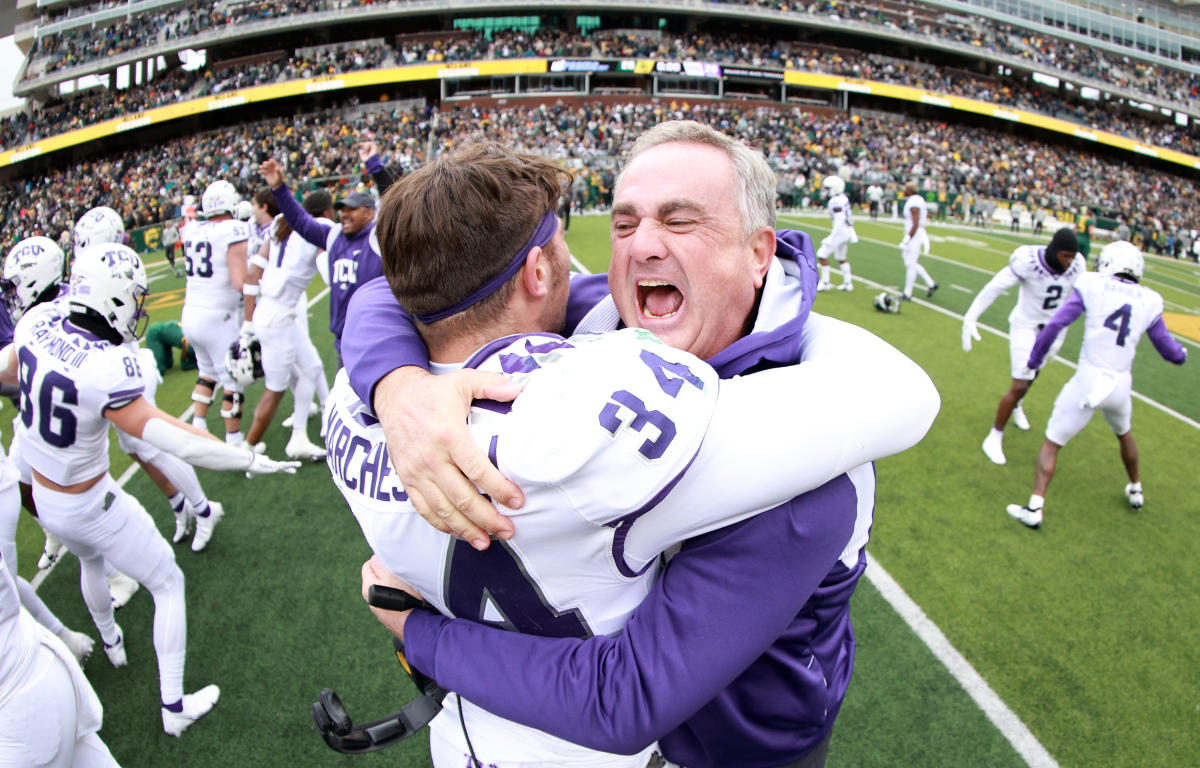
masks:
{"type": "Polygon", "coordinates": [[[1129,475],[1124,487],[1129,506],[1141,509],[1145,503],[1138,474],[1138,443],[1133,439],[1133,358],[1146,334],[1168,362],[1183,365],[1188,359],[1188,350],[1163,322],[1163,296],[1139,284],[1145,269],[1145,259],[1133,244],[1117,240],[1104,246],[1097,271],[1080,275],[1070,300],[1038,334],[1027,362],[1031,368],[1042,367],[1060,331],[1086,312],[1079,370],[1055,398],[1046,439],[1038,452],[1033,493],[1025,505],[1008,505],[1008,514],[1030,528],[1042,526],[1058,449],[1079,434],[1097,410],[1104,414],[1121,445],[1121,462],[1129,475]]]}

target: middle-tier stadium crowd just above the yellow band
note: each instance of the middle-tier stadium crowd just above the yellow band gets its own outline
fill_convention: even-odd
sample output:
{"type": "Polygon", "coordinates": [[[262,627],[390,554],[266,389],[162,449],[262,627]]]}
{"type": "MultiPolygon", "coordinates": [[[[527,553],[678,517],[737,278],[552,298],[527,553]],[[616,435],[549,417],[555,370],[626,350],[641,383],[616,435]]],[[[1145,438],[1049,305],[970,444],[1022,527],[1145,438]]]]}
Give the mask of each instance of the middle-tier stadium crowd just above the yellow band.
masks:
{"type": "Polygon", "coordinates": [[[763,41],[744,35],[641,35],[598,31],[590,38],[562,30],[538,34],[508,30],[488,41],[482,34],[446,32],[433,40],[388,44],[383,40],[302,49],[286,56],[202,71],[174,70],[157,80],[121,91],[95,92],[71,101],[22,110],[0,124],[0,146],[11,148],[74,128],[134,114],[151,107],[199,98],[222,91],[289,79],[426,61],[468,61],[528,56],[658,58],[718,61],[745,66],[791,68],[911,85],[938,94],[1040,112],[1093,130],[1104,130],[1156,146],[1200,154],[1194,126],[1079,98],[1074,92],[1046,90],[1022,78],[995,78],[936,67],[882,54],[787,41],[763,41]]]}

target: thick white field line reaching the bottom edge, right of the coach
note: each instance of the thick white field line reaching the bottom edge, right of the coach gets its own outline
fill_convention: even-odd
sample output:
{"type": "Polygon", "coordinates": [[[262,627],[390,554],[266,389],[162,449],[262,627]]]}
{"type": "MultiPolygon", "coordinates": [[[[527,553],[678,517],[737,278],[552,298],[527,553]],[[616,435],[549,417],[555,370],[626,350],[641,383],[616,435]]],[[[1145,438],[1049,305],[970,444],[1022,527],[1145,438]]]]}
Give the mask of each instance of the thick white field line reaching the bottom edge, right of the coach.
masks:
{"type": "Polygon", "coordinates": [[[1016,713],[1008,708],[1008,704],[1001,700],[996,691],[991,690],[988,680],[976,672],[962,654],[950,644],[942,630],[937,629],[937,625],[925,616],[920,606],[908,596],[904,588],[896,583],[896,580],[892,578],[892,575],[883,569],[880,562],[871,557],[870,552],[866,553],[866,580],[880,590],[883,599],[900,614],[900,618],[917,637],[934,652],[937,660],[954,676],[962,690],[991,720],[996,730],[1008,739],[1008,743],[1027,764],[1032,768],[1057,768],[1058,762],[1042,746],[1042,743],[1021,722],[1016,713]]]}

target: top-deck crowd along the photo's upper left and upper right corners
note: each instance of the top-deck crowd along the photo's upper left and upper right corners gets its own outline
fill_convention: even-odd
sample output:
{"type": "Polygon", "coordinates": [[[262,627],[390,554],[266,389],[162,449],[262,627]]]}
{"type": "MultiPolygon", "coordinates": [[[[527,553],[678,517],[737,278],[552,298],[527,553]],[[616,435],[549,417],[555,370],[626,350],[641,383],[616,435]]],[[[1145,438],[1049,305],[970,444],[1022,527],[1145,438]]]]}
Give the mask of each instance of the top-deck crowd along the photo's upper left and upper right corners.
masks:
{"type": "MultiPolygon", "coordinates": [[[[1194,72],[1163,67],[1136,58],[1117,56],[1096,47],[1080,46],[980,16],[973,16],[966,23],[961,16],[920,2],[892,0],[868,5],[840,0],[815,0],[808,4],[782,0],[714,1],[767,7],[790,14],[848,19],[902,31],[910,37],[925,37],[930,42],[952,40],[1025,59],[1039,67],[1075,73],[1178,103],[1188,103],[1200,95],[1200,77],[1194,72]]],[[[402,5],[404,0],[390,2],[402,5]]],[[[127,17],[109,26],[77,28],[42,37],[31,52],[31,66],[25,76],[37,77],[133,48],[191,37],[224,25],[364,5],[382,4],[376,0],[264,0],[221,8],[197,0],[161,13],[127,17]]],[[[47,20],[53,19],[47,17],[47,20]]],[[[1135,52],[1130,49],[1130,53],[1135,52]]]]}

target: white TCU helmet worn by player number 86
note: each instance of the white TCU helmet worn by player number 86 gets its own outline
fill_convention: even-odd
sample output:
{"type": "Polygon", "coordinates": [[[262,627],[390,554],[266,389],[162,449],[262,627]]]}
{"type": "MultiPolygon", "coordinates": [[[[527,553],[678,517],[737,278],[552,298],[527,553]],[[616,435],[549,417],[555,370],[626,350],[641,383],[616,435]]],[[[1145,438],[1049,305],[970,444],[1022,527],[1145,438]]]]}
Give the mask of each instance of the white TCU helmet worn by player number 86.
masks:
{"type": "Polygon", "coordinates": [[[100,314],[122,341],[137,341],[145,331],[142,311],[146,270],[133,248],[119,244],[94,245],[74,254],[71,263],[72,311],[100,314]]]}

